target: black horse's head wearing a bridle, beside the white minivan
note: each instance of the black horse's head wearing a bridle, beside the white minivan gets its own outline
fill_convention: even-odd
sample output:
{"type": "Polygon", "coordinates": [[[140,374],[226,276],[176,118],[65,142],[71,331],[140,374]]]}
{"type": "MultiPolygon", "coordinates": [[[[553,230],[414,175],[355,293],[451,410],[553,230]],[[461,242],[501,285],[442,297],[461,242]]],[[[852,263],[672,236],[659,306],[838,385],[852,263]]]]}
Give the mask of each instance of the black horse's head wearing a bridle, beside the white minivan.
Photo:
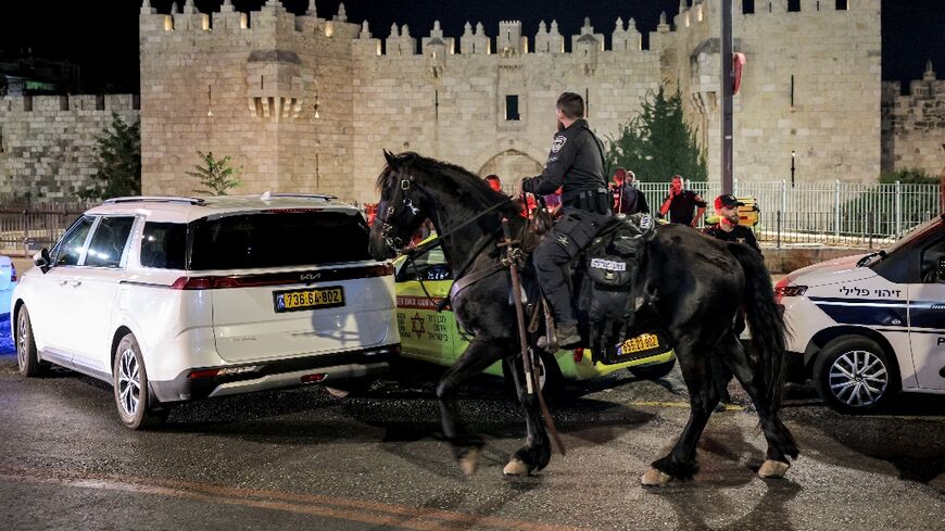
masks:
{"type": "Polygon", "coordinates": [[[377,179],[380,202],[370,227],[370,254],[377,260],[395,256],[420,225],[430,217],[431,203],[412,173],[414,153],[383,152],[387,166],[377,179]]]}

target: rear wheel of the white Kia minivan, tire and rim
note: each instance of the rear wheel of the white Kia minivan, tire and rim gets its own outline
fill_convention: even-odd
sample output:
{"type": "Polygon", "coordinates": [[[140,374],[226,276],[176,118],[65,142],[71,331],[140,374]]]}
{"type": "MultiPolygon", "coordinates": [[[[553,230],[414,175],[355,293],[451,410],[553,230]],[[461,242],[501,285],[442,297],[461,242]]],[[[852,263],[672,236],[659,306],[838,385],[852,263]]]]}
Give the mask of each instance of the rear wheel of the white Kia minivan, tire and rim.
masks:
{"type": "Polygon", "coordinates": [[[148,372],[144,358],[135,334],[128,333],[118,342],[112,366],[112,384],[115,388],[115,406],[125,427],[142,430],[158,426],[167,419],[167,409],[149,405],[148,372]]]}

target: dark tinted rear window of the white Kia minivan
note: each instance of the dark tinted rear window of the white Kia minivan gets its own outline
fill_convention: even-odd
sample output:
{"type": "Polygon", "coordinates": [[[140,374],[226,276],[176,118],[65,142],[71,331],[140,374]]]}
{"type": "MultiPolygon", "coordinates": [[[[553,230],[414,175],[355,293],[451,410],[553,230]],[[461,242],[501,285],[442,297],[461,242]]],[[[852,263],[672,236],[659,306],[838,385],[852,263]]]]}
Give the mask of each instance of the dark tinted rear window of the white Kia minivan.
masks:
{"type": "Polygon", "coordinates": [[[191,225],[191,270],[252,269],[371,260],[356,211],[262,211],[191,225]]]}

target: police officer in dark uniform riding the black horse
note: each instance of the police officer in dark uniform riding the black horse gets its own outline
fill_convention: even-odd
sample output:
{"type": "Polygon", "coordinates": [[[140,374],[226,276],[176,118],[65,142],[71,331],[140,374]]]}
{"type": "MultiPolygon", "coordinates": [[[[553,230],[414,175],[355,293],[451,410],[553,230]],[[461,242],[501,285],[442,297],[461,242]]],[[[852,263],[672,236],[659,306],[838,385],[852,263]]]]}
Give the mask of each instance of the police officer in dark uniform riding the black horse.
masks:
{"type": "MultiPolygon", "coordinates": [[[[568,349],[581,341],[571,306],[569,264],[610,217],[612,199],[604,180],[604,148],[584,121],[584,100],[565,92],[556,108],[558,132],[544,170],[522,179],[521,191],[546,195],[563,188],[562,219],[534,250],[533,262],[555,318],[557,344],[568,349]]],[[[539,346],[547,347],[547,340],[539,340],[539,346]]]]}

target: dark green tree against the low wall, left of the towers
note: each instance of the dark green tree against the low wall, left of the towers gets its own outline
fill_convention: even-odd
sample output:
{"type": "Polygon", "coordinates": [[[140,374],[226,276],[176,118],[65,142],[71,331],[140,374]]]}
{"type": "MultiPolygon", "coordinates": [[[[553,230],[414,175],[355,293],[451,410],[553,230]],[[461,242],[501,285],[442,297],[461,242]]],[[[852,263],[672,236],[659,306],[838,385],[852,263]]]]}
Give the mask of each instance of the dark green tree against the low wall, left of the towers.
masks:
{"type": "Polygon", "coordinates": [[[125,123],[112,114],[112,125],[96,139],[99,160],[92,187],[76,192],[81,199],[98,200],[141,193],[141,125],[125,123]]]}

